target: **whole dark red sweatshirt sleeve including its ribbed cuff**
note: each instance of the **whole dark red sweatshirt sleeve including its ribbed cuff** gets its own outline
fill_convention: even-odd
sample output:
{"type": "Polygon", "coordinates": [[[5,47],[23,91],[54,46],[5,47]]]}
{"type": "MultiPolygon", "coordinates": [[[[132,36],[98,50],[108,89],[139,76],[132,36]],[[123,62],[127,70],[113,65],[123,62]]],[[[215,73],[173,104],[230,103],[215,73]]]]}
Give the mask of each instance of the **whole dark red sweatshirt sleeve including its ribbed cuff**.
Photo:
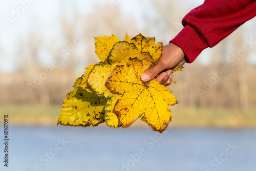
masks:
{"type": "Polygon", "coordinates": [[[256,0],[205,0],[182,19],[184,28],[170,42],[193,62],[205,48],[214,47],[254,16],[256,0]]]}

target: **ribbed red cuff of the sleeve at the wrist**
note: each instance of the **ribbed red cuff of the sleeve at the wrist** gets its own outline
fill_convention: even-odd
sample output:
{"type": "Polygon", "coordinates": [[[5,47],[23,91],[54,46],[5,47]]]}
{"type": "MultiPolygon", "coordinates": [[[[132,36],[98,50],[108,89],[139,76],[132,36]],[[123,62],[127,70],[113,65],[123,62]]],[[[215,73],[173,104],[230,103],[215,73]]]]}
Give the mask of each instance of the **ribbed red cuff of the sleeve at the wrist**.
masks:
{"type": "Polygon", "coordinates": [[[169,42],[172,42],[183,50],[189,63],[193,62],[205,48],[209,47],[204,38],[189,25],[186,25],[180,33],[169,42]]]}

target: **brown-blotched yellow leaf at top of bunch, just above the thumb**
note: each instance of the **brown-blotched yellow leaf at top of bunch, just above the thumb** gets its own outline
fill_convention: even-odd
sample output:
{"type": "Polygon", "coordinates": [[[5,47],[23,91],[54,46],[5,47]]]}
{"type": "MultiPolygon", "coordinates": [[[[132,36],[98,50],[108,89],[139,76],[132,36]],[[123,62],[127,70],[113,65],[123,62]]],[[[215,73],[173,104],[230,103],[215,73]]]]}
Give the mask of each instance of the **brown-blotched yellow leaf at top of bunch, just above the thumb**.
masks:
{"type": "Polygon", "coordinates": [[[131,43],[135,44],[140,52],[148,52],[153,57],[154,62],[162,55],[163,44],[155,44],[155,37],[144,37],[139,34],[132,38],[131,43]]]}

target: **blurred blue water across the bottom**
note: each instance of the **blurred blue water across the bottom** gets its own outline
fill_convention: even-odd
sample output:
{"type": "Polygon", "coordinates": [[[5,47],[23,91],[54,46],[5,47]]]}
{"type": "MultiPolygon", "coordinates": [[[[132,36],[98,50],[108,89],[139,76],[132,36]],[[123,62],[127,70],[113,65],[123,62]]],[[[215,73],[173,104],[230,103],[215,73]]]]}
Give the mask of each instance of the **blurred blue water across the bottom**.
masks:
{"type": "Polygon", "coordinates": [[[8,168],[3,151],[0,170],[254,171],[256,130],[10,126],[8,168]]]}

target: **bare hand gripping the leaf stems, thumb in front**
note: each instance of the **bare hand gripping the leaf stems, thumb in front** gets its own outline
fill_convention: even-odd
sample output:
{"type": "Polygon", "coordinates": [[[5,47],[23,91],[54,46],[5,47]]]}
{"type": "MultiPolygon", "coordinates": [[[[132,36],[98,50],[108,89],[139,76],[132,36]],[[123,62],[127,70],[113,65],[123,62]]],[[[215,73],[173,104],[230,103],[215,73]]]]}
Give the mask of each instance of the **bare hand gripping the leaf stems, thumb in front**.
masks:
{"type": "Polygon", "coordinates": [[[163,47],[162,56],[153,63],[150,69],[141,75],[140,79],[147,82],[160,73],[155,80],[159,81],[164,86],[168,86],[172,83],[172,69],[182,67],[185,62],[185,54],[182,49],[177,45],[170,43],[163,47]]]}

